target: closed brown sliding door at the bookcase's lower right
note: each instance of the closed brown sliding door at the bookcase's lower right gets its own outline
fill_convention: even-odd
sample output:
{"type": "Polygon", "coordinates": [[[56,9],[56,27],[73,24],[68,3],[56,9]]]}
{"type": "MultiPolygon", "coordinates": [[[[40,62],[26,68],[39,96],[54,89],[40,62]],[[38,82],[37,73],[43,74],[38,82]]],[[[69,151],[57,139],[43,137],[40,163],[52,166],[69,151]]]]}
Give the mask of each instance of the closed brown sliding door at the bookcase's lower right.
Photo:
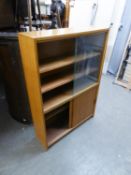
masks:
{"type": "Polygon", "coordinates": [[[72,127],[75,127],[94,114],[97,89],[98,87],[93,87],[72,101],[72,127]]]}

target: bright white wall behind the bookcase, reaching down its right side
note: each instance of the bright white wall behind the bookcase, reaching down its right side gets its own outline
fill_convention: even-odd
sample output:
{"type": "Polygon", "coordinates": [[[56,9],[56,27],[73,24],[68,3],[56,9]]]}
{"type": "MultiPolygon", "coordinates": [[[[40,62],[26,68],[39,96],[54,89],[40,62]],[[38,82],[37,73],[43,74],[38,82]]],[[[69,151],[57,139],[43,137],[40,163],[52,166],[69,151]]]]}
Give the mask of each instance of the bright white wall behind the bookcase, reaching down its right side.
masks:
{"type": "Polygon", "coordinates": [[[94,3],[98,4],[98,7],[93,26],[110,27],[110,24],[113,23],[113,26],[110,29],[103,73],[107,72],[125,2],[126,0],[75,0],[75,6],[74,8],[71,8],[70,27],[90,26],[91,18],[94,15],[94,3]]]}

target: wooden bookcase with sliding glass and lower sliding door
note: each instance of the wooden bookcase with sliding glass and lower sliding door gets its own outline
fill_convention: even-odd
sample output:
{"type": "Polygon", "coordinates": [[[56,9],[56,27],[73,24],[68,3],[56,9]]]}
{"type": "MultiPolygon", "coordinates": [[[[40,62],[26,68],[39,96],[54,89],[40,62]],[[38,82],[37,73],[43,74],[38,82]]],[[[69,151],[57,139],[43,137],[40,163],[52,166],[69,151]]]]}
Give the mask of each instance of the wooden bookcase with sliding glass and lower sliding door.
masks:
{"type": "Polygon", "coordinates": [[[94,115],[108,28],[19,33],[36,135],[47,149],[94,115]]]}

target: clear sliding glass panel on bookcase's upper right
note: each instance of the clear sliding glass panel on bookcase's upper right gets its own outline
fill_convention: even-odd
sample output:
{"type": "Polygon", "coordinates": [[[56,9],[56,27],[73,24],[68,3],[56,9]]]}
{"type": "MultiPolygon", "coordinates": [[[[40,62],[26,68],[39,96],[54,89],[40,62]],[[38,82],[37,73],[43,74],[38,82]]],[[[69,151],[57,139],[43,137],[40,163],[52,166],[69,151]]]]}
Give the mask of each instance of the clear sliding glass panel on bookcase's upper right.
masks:
{"type": "Polygon", "coordinates": [[[87,88],[98,80],[105,33],[76,39],[74,92],[87,88]]]}

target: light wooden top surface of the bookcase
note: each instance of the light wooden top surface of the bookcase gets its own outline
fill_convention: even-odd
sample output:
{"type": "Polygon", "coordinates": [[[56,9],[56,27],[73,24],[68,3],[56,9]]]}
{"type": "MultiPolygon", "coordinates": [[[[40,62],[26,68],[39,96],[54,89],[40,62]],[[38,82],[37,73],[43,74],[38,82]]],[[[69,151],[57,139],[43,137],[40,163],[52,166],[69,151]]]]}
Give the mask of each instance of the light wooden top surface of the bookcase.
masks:
{"type": "Polygon", "coordinates": [[[109,28],[100,28],[100,27],[62,28],[62,29],[50,29],[50,30],[41,30],[32,32],[20,32],[19,36],[29,37],[36,41],[47,41],[56,38],[77,37],[80,35],[107,32],[108,30],[109,28]]]}

